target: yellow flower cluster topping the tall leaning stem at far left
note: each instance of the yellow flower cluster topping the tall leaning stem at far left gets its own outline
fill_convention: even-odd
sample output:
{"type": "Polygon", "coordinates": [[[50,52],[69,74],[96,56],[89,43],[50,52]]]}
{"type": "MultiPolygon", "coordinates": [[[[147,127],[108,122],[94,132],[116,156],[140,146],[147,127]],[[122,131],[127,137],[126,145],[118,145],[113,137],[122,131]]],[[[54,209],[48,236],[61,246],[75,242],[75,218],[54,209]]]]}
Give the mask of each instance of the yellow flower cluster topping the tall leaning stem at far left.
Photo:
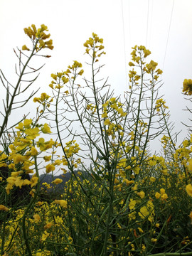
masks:
{"type": "MultiPolygon", "coordinates": [[[[31,38],[37,51],[41,50],[42,48],[49,48],[50,50],[53,50],[54,48],[52,39],[50,39],[49,41],[46,41],[46,39],[50,38],[50,33],[46,34],[45,31],[48,31],[48,27],[45,26],[44,24],[42,24],[41,28],[38,28],[38,29],[34,24],[32,24],[31,27],[24,28],[24,32],[28,37],[31,38]]],[[[22,47],[22,50],[30,50],[30,49],[26,45],[24,45],[22,47]]]]}

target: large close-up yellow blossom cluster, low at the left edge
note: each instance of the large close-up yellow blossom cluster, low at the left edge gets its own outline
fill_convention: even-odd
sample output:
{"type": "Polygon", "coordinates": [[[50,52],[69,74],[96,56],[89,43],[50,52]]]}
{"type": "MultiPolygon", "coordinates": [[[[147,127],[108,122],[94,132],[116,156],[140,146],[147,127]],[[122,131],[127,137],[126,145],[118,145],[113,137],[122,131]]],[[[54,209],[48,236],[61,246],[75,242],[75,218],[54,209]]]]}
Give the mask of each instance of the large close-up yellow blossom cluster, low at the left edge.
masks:
{"type": "Polygon", "coordinates": [[[18,124],[16,129],[18,129],[18,132],[16,132],[16,137],[14,137],[14,143],[9,145],[9,149],[11,150],[9,156],[1,154],[1,158],[4,158],[4,164],[1,164],[1,166],[7,166],[5,161],[10,161],[8,167],[11,169],[11,176],[6,179],[7,194],[10,193],[10,190],[14,186],[19,188],[26,185],[30,185],[31,188],[36,186],[38,183],[36,174],[32,176],[30,181],[21,178],[21,176],[23,174],[33,173],[33,169],[30,169],[34,164],[33,158],[41,153],[38,152],[36,146],[41,151],[45,151],[55,144],[52,139],[48,142],[45,142],[43,138],[38,139],[38,142],[34,141],[36,137],[40,136],[41,132],[44,134],[50,133],[50,127],[46,123],[35,126],[32,119],[24,119],[23,122],[18,124]]]}

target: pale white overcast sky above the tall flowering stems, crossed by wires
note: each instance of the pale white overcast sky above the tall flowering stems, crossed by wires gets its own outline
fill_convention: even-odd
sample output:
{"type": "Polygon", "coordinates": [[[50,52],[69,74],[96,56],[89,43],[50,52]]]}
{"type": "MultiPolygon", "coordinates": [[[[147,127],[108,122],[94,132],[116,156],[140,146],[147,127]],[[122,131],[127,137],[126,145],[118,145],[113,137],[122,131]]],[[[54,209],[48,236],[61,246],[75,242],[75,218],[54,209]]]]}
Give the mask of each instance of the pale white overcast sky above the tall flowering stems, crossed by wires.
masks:
{"type": "MultiPolygon", "coordinates": [[[[84,64],[82,45],[95,32],[104,38],[107,52],[103,77],[110,77],[112,88],[119,94],[128,87],[131,47],[144,45],[151,50],[149,60],[164,70],[161,94],[169,105],[175,131],[183,129],[185,136],[180,122],[187,122],[189,114],[182,111],[187,102],[181,91],[183,80],[192,78],[191,12],[191,0],[0,0],[0,68],[6,78],[16,81],[13,48],[31,43],[23,28],[44,23],[55,48],[45,50],[52,58],[43,59],[46,66],[35,87],[47,92],[50,73],[65,70],[73,60],[84,64]]],[[[36,105],[31,106],[36,109],[36,105]]],[[[26,109],[20,111],[23,115],[26,109]]]]}

